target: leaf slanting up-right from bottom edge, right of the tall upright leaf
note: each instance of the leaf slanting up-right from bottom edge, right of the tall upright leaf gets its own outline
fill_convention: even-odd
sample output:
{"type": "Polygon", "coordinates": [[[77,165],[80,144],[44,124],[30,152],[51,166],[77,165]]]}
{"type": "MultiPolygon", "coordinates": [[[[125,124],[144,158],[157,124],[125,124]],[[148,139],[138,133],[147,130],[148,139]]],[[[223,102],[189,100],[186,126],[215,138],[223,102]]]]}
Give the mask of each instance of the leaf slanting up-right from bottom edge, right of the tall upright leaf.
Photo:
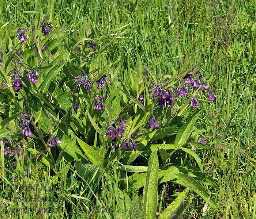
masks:
{"type": "Polygon", "coordinates": [[[181,206],[181,204],[184,202],[184,200],[187,197],[189,188],[185,188],[183,192],[180,193],[180,195],[177,196],[176,199],[172,201],[170,205],[162,212],[160,215],[160,219],[168,219],[170,216],[174,216],[176,214],[176,210],[181,206]]]}

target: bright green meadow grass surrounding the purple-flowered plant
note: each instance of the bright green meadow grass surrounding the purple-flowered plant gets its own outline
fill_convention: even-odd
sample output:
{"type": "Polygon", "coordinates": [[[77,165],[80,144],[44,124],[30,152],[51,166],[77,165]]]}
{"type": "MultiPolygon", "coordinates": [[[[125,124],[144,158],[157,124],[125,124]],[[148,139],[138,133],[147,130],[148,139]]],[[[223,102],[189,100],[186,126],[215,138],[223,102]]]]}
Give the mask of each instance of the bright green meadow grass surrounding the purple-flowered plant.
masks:
{"type": "MultiPolygon", "coordinates": [[[[0,28],[8,22],[20,25],[19,19],[29,25],[39,10],[46,13],[49,4],[50,1],[1,0],[0,28]]],[[[84,22],[95,31],[94,40],[99,49],[115,38],[104,61],[110,65],[120,62],[118,74],[124,82],[136,71],[139,55],[147,66],[153,66],[162,74],[172,72],[171,64],[181,73],[186,56],[192,65],[202,59],[203,75],[211,78],[212,87],[218,91],[214,104],[202,104],[198,121],[213,125],[208,128],[206,137],[215,145],[209,151],[200,151],[199,156],[204,171],[219,182],[219,188],[209,186],[208,189],[220,208],[207,208],[203,214],[205,203],[196,198],[198,207],[187,209],[184,217],[255,218],[256,1],[59,0],[54,4],[54,19],[57,26],[71,24],[66,32],[69,45],[73,45],[72,37],[84,38],[84,22]]],[[[101,61],[99,58],[99,66],[101,61]]],[[[191,112],[188,109],[183,114],[189,116],[191,112]]],[[[185,153],[177,153],[177,159],[169,162],[195,165],[185,153]]],[[[60,166],[60,172],[71,168],[64,161],[60,166]]],[[[122,176],[117,170],[113,171],[113,176],[109,176],[111,183],[99,176],[102,177],[102,188],[97,188],[97,181],[92,179],[89,193],[82,195],[88,203],[97,199],[96,203],[116,205],[115,188],[122,176]]],[[[70,194],[75,191],[75,184],[82,184],[79,185],[81,191],[88,190],[89,185],[77,180],[78,173],[71,178],[71,182],[62,182],[69,186],[70,194]]],[[[49,172],[45,182],[53,180],[49,172]]],[[[169,183],[168,187],[169,193],[159,195],[159,203],[166,199],[165,196],[177,195],[177,186],[169,183]]],[[[81,194],[81,191],[76,193],[81,194]]],[[[135,197],[136,192],[129,191],[130,197],[135,197]]],[[[73,196],[69,196],[70,200],[76,203],[73,196]]],[[[116,208],[121,211],[121,204],[116,208]]],[[[58,218],[58,214],[52,216],[58,218]]],[[[22,218],[22,215],[17,217],[22,218]]],[[[87,218],[83,215],[76,217],[87,218]]],[[[100,212],[94,214],[94,218],[105,217],[100,212]]]]}

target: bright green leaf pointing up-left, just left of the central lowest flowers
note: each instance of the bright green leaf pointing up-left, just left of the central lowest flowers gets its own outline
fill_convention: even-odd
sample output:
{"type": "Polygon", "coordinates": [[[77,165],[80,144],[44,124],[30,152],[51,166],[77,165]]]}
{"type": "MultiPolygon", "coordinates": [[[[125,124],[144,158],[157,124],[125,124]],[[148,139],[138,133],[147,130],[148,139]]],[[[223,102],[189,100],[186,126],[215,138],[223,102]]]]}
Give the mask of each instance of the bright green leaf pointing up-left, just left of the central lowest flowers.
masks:
{"type": "Polygon", "coordinates": [[[83,149],[85,155],[89,158],[89,160],[94,165],[102,165],[104,162],[104,158],[99,155],[97,151],[95,151],[90,145],[87,145],[87,143],[83,142],[81,139],[76,137],[79,145],[83,149]]]}

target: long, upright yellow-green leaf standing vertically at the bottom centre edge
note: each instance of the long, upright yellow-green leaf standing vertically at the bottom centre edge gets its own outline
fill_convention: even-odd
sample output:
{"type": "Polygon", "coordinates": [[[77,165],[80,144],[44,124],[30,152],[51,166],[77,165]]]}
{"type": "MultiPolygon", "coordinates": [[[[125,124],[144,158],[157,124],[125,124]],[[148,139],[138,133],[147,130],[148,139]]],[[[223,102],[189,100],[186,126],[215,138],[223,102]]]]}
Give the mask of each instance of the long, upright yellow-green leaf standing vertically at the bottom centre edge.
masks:
{"type": "Polygon", "coordinates": [[[156,217],[159,172],[157,150],[153,151],[148,161],[147,175],[143,189],[142,209],[149,218],[156,217]]]}

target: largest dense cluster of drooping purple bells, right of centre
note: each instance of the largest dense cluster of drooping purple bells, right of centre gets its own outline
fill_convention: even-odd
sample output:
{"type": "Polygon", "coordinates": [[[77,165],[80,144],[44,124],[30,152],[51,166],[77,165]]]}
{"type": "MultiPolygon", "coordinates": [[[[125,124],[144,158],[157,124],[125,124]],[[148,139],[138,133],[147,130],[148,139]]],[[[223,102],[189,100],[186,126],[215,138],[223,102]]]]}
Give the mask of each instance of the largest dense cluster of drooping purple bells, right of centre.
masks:
{"type": "Polygon", "coordinates": [[[152,93],[154,91],[154,99],[157,97],[160,97],[158,100],[159,106],[167,107],[167,104],[173,106],[174,105],[174,96],[171,88],[165,88],[162,84],[159,85],[153,85],[149,92],[152,93]]]}

